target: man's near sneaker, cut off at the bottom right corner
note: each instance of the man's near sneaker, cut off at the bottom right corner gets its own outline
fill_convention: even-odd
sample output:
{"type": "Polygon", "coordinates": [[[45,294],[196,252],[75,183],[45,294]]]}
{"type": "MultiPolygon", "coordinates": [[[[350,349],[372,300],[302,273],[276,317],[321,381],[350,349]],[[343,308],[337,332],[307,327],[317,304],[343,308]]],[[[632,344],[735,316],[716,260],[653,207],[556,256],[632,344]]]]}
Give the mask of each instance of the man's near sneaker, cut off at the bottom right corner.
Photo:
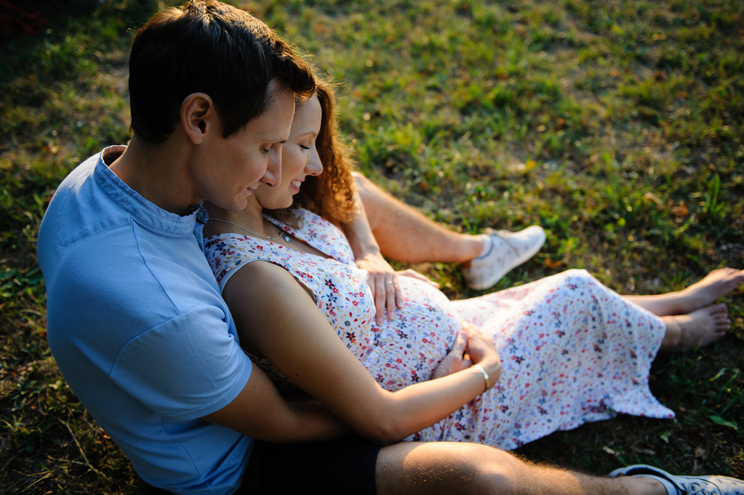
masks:
{"type": "MultiPolygon", "coordinates": [[[[609,473],[609,476],[649,476],[662,482],[668,482],[677,490],[670,495],[744,495],[744,481],[728,476],[674,476],[658,467],[647,464],[635,464],[620,467],[609,473]]],[[[666,485],[667,483],[664,483],[666,485]]],[[[667,488],[669,491],[669,488],[667,488]]]]}

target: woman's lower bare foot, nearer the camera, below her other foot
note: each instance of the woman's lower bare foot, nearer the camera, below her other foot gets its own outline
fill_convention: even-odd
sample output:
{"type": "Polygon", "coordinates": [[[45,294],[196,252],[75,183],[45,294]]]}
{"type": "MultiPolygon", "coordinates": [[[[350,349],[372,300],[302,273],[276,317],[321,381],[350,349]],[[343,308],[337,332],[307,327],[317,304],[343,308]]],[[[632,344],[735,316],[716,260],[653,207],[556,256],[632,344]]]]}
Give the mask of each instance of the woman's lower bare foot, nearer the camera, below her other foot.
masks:
{"type": "Polygon", "coordinates": [[[667,333],[660,351],[688,351],[709,345],[725,335],[731,320],[725,304],[711,304],[692,313],[662,316],[667,333]]]}

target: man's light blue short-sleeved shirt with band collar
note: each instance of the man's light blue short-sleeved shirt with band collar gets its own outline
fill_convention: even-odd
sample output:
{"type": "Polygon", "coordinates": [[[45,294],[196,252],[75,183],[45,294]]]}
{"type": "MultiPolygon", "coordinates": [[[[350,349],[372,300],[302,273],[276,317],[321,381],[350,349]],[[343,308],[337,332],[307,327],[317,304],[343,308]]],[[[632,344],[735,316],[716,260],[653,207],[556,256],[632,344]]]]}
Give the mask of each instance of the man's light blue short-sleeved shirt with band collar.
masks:
{"type": "Polygon", "coordinates": [[[230,494],[251,438],[199,418],[237,397],[251,362],[202,253],[206,212],[181,217],[132,191],[106,165],[124,149],[73,170],[42,221],[49,347],[145,481],[230,494]]]}

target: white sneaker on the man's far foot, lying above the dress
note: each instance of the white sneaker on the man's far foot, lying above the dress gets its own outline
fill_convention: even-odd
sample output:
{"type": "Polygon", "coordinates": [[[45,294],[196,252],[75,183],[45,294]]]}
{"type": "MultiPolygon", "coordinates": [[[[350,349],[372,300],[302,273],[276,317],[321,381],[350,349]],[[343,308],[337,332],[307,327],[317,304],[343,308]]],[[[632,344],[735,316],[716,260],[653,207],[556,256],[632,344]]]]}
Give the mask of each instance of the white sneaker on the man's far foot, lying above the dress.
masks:
{"type": "Polygon", "coordinates": [[[516,232],[486,229],[485,234],[491,237],[490,251],[462,264],[465,284],[471,289],[496,284],[511,269],[536,255],[545,243],[545,231],[536,225],[516,232]]]}

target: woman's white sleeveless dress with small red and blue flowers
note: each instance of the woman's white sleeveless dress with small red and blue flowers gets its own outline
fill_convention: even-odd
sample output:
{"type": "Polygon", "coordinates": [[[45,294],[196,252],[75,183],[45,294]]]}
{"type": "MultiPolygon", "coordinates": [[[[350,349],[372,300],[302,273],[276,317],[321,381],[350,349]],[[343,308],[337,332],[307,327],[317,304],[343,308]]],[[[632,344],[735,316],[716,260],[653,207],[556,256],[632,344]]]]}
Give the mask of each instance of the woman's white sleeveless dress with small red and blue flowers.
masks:
{"type": "MultiPolygon", "coordinates": [[[[408,440],[513,449],[618,413],[674,416],[648,386],[664,323],[584,270],[462,301],[400,276],[406,306],[378,326],[367,272],[354,264],[336,226],[307,210],[300,212],[299,229],[266,218],[328,258],[256,237],[219,234],[206,238],[204,247],[220,287],[251,261],[282,266],[310,290],[339,338],[385,389],[429,380],[462,320],[493,336],[502,362],[496,385],[408,440]]],[[[266,360],[258,363],[275,380],[286,380],[266,360]]]]}

